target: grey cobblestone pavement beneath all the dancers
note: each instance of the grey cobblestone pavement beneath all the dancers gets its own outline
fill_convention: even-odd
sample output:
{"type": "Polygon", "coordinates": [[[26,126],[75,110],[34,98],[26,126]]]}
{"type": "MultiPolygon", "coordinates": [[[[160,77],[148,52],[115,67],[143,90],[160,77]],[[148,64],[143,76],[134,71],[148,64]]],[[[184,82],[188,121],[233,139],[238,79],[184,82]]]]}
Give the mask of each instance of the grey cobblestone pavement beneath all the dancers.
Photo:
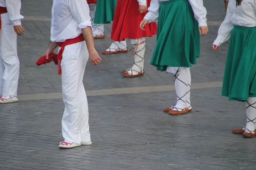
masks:
{"type": "MultiPolygon", "coordinates": [[[[132,65],[131,52],[101,54],[100,65],[87,64],[84,86],[93,94],[88,95],[93,145],[73,149],[58,149],[64,104],[57,67],[35,65],[49,43],[52,0],[22,3],[26,34],[18,38],[18,90],[24,98],[0,105],[0,170],[256,169],[255,139],[230,131],[244,126],[244,103],[220,96],[228,43],[218,52],[211,44],[224,19],[222,0],[204,0],[209,34],[201,39],[201,58],[191,69],[193,112],[163,113],[175,104],[175,92],[164,86],[171,84],[171,76],[149,65],[156,37],[147,38],[143,77],[124,78],[119,72],[132,65]],[[135,94],[129,94],[133,89],[135,94]],[[41,100],[29,100],[30,94],[41,100]]],[[[99,52],[111,43],[111,25],[105,30],[106,38],[95,41],[99,52]]]]}

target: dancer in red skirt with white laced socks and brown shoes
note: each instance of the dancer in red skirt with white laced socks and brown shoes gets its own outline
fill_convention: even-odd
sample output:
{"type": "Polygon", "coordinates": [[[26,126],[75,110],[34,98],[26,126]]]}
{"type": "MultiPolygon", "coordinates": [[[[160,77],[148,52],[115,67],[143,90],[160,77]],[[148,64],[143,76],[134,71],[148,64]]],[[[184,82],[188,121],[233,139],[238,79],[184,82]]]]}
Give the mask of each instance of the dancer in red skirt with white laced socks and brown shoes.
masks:
{"type": "Polygon", "coordinates": [[[134,51],[134,65],[122,71],[125,77],[143,76],[145,37],[152,37],[157,33],[156,23],[145,26],[145,31],[140,30],[140,21],[147,13],[147,6],[151,0],[118,0],[111,31],[111,46],[103,54],[127,52],[126,38],[131,39],[134,51]],[[136,10],[135,10],[136,9],[136,10]],[[137,10],[139,9],[139,10],[137,10]]]}

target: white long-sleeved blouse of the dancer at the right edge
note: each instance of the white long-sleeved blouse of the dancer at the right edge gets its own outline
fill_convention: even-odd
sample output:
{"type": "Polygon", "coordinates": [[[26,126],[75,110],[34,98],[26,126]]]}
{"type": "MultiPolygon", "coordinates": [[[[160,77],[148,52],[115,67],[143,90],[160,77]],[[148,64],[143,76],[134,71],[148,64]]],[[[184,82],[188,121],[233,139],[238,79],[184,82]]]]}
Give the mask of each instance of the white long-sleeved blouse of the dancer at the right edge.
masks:
{"type": "Polygon", "coordinates": [[[230,38],[231,31],[236,26],[256,26],[256,0],[243,0],[241,6],[236,7],[236,0],[229,0],[227,15],[218,30],[218,37],[213,42],[220,46],[230,38]]]}

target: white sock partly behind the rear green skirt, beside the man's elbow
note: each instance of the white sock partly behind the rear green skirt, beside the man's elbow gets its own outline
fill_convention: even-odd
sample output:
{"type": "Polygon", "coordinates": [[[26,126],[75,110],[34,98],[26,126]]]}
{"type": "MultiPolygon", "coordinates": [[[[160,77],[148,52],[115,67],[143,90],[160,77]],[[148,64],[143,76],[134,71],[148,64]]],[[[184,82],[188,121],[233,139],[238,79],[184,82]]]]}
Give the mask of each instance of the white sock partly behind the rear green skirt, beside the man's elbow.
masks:
{"type": "Polygon", "coordinates": [[[93,31],[93,36],[96,36],[96,35],[103,35],[103,34],[104,34],[104,24],[94,24],[96,3],[94,3],[94,4],[89,4],[89,7],[90,7],[90,17],[91,17],[91,19],[92,19],[92,31],[93,31]]]}

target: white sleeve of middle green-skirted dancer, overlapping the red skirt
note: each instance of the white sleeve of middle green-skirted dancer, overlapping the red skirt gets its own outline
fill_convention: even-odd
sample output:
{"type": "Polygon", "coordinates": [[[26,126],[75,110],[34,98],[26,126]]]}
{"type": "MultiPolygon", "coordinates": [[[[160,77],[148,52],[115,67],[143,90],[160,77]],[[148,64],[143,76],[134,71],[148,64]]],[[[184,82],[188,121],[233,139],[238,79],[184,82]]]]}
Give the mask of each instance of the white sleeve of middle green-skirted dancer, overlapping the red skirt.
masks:
{"type": "Polygon", "coordinates": [[[160,1],[151,0],[150,6],[148,8],[148,13],[145,15],[144,20],[149,20],[149,22],[155,22],[159,17],[160,1]]]}

